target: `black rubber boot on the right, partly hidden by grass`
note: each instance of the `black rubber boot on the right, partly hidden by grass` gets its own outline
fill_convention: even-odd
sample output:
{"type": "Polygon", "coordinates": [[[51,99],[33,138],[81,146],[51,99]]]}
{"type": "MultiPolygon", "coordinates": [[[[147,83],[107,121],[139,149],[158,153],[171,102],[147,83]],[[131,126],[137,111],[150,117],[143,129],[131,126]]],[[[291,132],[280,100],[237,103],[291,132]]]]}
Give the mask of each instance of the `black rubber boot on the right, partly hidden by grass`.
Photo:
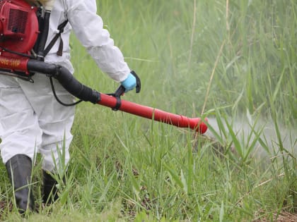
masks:
{"type": "Polygon", "coordinates": [[[57,180],[54,180],[52,176],[46,171],[42,171],[43,175],[43,196],[42,202],[44,204],[52,204],[57,201],[58,196],[58,188],[57,188],[57,180]]]}

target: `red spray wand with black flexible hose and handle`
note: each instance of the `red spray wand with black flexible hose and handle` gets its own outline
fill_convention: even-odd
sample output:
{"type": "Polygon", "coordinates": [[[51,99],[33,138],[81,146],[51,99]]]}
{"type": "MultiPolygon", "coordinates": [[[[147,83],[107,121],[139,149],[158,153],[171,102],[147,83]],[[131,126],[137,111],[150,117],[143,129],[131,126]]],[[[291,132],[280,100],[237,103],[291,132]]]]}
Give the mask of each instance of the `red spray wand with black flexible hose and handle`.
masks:
{"type": "MultiPolygon", "coordinates": [[[[179,128],[190,128],[192,130],[196,130],[200,134],[203,134],[207,130],[207,125],[201,120],[201,118],[188,118],[187,116],[168,113],[161,111],[160,109],[154,109],[149,106],[143,106],[131,101],[120,99],[120,96],[125,91],[122,85],[120,85],[113,94],[103,94],[92,90],[91,88],[81,84],[81,82],[78,82],[78,80],[74,78],[74,75],[72,75],[69,70],[63,66],[57,66],[55,64],[30,59],[27,63],[27,68],[31,72],[51,75],[53,78],[56,78],[69,93],[83,101],[91,101],[93,104],[107,106],[115,111],[124,111],[136,116],[175,125],[179,128]]],[[[133,71],[132,74],[136,78],[136,93],[138,93],[141,88],[140,79],[133,71]]]]}

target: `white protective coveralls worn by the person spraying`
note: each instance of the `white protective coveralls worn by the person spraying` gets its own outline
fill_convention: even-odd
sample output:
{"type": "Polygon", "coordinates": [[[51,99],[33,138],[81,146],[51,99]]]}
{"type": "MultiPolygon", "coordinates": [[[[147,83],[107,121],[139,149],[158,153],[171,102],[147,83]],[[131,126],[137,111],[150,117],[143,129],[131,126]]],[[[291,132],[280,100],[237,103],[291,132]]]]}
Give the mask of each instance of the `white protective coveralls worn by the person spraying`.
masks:
{"type": "MultiPolygon", "coordinates": [[[[94,58],[98,67],[110,78],[122,82],[130,69],[120,49],[115,47],[109,32],[103,29],[103,21],[96,14],[95,0],[57,0],[50,16],[47,44],[58,32],[57,27],[66,18],[64,28],[63,56],[57,56],[59,39],[45,57],[45,62],[56,63],[74,72],[70,63],[69,35],[71,29],[81,44],[94,58]]],[[[50,80],[45,75],[35,74],[34,83],[0,75],[0,144],[4,162],[16,154],[25,154],[33,159],[36,152],[43,156],[42,169],[54,171],[54,159],[59,166],[57,147],[62,149],[64,138],[66,163],[69,161],[69,145],[72,140],[71,126],[74,121],[74,106],[62,106],[53,96],[50,80]]],[[[54,82],[59,99],[65,103],[74,101],[57,81],[54,82]]],[[[65,163],[65,164],[66,164],[65,163]]]]}

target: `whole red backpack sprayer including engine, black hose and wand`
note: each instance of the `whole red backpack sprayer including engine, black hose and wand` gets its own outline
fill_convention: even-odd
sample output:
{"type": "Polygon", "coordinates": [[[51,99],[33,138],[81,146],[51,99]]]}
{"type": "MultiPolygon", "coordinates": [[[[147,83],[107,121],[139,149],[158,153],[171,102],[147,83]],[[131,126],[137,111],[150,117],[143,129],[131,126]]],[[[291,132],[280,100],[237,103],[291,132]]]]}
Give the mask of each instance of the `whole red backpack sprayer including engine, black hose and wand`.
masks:
{"type": "MultiPolygon", "coordinates": [[[[81,99],[81,101],[91,101],[93,104],[107,106],[112,110],[132,113],[136,116],[168,123],[179,128],[191,128],[200,134],[206,132],[207,126],[200,118],[188,118],[122,100],[120,96],[125,91],[122,85],[113,94],[97,92],[78,82],[66,68],[52,63],[45,63],[45,56],[59,38],[59,34],[63,32],[67,21],[59,25],[58,30],[60,33],[45,47],[50,11],[54,1],[41,1],[45,7],[43,12],[41,10],[43,6],[39,4],[40,1],[32,2],[35,2],[35,4],[29,4],[27,1],[22,0],[0,1],[1,74],[11,75],[31,82],[33,82],[31,76],[35,73],[44,74],[49,76],[50,80],[52,78],[57,79],[69,93],[81,99]]],[[[136,73],[133,72],[133,74],[137,80],[136,92],[140,92],[141,82],[136,73]]],[[[59,101],[56,95],[55,97],[59,101]]]]}

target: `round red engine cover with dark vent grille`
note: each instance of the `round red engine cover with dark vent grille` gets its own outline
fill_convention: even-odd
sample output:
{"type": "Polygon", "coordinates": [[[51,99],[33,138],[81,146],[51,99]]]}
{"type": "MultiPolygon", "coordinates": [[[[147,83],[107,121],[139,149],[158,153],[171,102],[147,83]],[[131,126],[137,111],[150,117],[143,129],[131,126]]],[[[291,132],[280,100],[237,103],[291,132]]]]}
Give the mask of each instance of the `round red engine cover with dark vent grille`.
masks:
{"type": "Polygon", "coordinates": [[[36,12],[36,6],[23,0],[0,1],[1,55],[16,57],[5,49],[30,54],[39,34],[36,12]]]}

